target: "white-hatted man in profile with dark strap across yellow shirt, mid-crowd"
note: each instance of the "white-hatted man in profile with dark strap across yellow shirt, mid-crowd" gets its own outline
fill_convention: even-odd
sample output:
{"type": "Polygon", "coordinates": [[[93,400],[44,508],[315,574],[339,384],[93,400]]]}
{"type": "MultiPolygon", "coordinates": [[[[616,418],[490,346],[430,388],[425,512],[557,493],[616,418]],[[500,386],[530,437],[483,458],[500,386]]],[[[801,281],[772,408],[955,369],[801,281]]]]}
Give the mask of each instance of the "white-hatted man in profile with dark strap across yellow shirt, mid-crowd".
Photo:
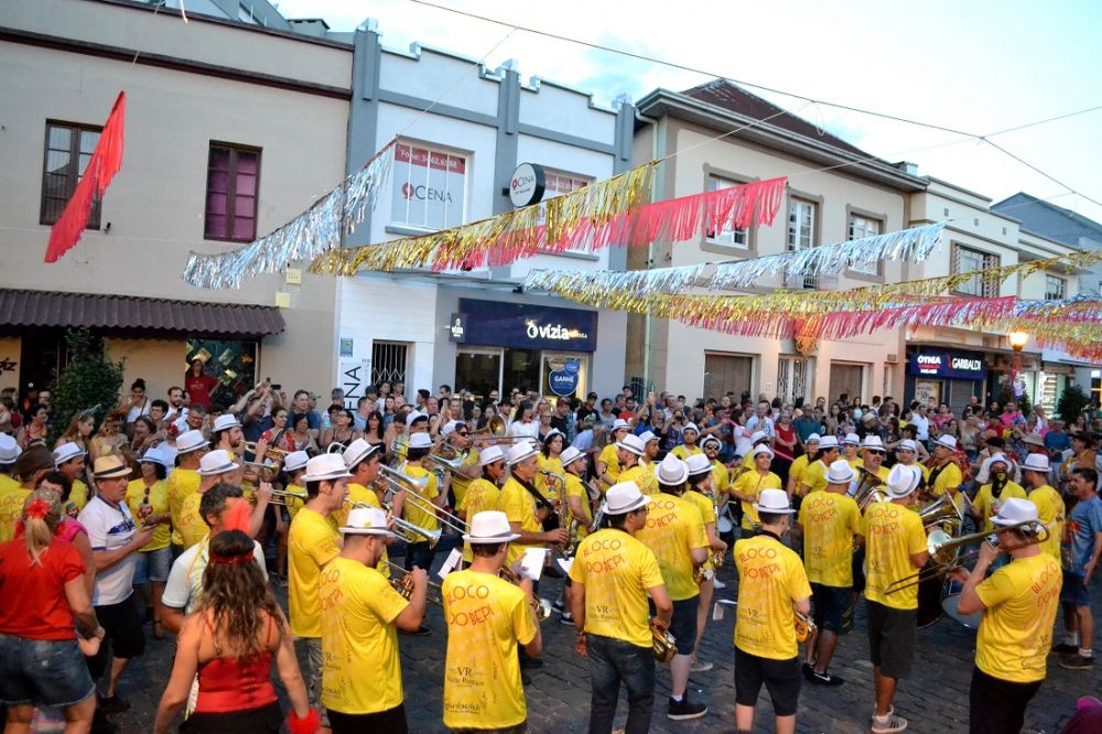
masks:
{"type": "Polygon", "coordinates": [[[506,481],[498,498],[498,509],[509,518],[509,526],[520,537],[509,543],[508,563],[511,565],[529,548],[562,546],[566,542],[565,528],[543,530],[543,519],[551,506],[536,488],[539,451],[528,441],[518,441],[509,449],[507,463],[512,475],[506,481]],[[539,498],[539,500],[537,499],[539,498]],[[540,515],[538,516],[537,512],[540,515]]]}

